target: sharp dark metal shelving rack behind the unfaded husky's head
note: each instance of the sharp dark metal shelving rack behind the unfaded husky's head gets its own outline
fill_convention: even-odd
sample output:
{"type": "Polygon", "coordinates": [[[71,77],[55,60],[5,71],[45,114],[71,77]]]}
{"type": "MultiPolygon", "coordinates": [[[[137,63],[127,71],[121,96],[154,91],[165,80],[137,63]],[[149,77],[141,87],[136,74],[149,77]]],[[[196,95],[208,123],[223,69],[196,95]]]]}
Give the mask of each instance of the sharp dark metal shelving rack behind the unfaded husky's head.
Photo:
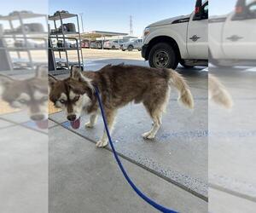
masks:
{"type": "Polygon", "coordinates": [[[49,29],[49,72],[51,74],[62,74],[68,72],[70,66],[76,65],[81,69],[84,67],[83,62],[83,52],[81,48],[81,36],[80,36],[80,27],[79,27],[79,15],[78,14],[69,14],[69,13],[61,13],[56,12],[54,15],[49,15],[48,20],[54,21],[55,32],[51,32],[49,29]],[[76,18],[77,27],[76,32],[67,32],[64,30],[63,20],[76,18]],[[60,21],[61,24],[61,32],[58,32],[57,21],[60,21]],[[78,38],[77,38],[78,37],[78,38]],[[54,47],[52,40],[56,39],[57,43],[62,41],[62,47],[54,47]],[[66,41],[74,40],[76,43],[75,47],[67,47],[66,41]],[[78,61],[70,61],[68,59],[68,50],[77,50],[78,61]],[[65,60],[56,61],[55,52],[58,52],[60,60],[63,59],[61,53],[64,52],[65,60]],[[50,68],[50,63],[53,63],[53,69],[50,68]]]}

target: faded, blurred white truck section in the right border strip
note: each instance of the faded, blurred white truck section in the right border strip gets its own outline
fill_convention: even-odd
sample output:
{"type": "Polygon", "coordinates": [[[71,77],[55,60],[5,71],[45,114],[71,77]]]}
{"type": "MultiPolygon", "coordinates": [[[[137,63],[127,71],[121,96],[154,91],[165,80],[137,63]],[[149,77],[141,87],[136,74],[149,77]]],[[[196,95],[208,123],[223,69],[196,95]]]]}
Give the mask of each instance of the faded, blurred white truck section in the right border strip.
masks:
{"type": "Polygon", "coordinates": [[[237,0],[230,14],[209,18],[209,60],[215,66],[256,65],[256,0],[237,0]]]}

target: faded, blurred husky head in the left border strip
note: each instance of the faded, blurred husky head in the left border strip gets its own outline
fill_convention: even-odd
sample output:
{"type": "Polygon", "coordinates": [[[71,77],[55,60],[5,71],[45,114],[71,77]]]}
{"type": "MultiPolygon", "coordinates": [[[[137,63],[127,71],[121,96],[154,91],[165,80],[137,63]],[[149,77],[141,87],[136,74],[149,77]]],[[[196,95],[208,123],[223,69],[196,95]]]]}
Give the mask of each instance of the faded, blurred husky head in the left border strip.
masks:
{"type": "Polygon", "coordinates": [[[0,95],[10,107],[27,109],[38,127],[48,124],[47,67],[38,67],[33,78],[15,79],[0,75],[0,95]]]}

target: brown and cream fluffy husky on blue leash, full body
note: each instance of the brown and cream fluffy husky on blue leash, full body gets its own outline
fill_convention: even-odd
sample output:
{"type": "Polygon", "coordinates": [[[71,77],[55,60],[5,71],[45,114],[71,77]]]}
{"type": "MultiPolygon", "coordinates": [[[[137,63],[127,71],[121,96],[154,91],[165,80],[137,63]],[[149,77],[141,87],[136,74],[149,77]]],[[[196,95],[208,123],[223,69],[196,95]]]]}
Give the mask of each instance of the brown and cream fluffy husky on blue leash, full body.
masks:
{"type": "MultiPolygon", "coordinates": [[[[143,103],[153,120],[152,130],[143,134],[153,139],[160,128],[162,113],[166,109],[169,93],[173,85],[179,91],[179,100],[186,107],[193,108],[193,97],[184,78],[169,69],[155,69],[143,66],[104,66],[97,72],[80,72],[73,67],[69,78],[58,80],[49,76],[49,99],[56,107],[62,107],[68,115],[79,118],[82,112],[90,113],[86,127],[93,127],[99,112],[94,87],[102,97],[109,130],[113,130],[114,117],[119,107],[131,101],[143,103]],[[64,100],[63,100],[64,99],[64,100]]],[[[106,132],[97,147],[108,145],[106,132]]]]}

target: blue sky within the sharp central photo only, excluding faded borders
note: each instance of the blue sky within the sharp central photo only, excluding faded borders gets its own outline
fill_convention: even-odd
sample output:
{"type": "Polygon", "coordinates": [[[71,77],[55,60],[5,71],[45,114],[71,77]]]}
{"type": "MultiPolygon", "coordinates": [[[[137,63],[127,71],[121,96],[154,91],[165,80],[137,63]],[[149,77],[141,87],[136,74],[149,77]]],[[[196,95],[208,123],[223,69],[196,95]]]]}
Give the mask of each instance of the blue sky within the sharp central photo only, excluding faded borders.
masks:
{"type": "Polygon", "coordinates": [[[142,36],[148,24],[180,14],[190,14],[195,0],[49,0],[49,14],[56,10],[84,13],[84,31],[133,32],[142,36]]]}

